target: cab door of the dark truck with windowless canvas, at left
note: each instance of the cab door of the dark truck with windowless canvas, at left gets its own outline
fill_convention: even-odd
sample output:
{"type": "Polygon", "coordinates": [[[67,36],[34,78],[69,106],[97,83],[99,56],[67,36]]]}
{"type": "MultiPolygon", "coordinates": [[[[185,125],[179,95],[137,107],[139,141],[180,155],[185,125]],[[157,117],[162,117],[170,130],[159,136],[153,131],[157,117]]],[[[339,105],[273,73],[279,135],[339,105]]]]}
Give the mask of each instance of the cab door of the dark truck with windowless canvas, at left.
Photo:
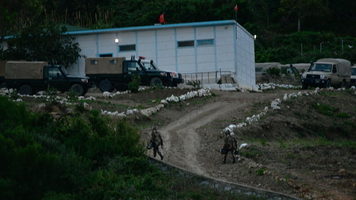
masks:
{"type": "Polygon", "coordinates": [[[58,67],[48,67],[48,79],[45,81],[47,81],[46,85],[49,85],[49,87],[56,88],[57,90],[68,89],[68,86],[66,85],[68,81],[66,80],[66,77],[64,77],[58,67]]]}

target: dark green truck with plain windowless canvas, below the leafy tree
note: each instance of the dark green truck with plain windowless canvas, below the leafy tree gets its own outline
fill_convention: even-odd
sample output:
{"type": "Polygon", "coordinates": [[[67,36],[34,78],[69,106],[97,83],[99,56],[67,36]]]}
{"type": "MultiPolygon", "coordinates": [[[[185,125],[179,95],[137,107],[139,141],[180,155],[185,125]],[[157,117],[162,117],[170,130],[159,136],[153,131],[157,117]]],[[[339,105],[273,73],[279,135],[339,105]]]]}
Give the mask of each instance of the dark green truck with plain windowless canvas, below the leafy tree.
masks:
{"type": "Polygon", "coordinates": [[[6,62],[5,83],[7,88],[17,89],[22,95],[53,87],[83,96],[89,89],[88,77],[69,75],[62,65],[47,62],[6,62]]]}

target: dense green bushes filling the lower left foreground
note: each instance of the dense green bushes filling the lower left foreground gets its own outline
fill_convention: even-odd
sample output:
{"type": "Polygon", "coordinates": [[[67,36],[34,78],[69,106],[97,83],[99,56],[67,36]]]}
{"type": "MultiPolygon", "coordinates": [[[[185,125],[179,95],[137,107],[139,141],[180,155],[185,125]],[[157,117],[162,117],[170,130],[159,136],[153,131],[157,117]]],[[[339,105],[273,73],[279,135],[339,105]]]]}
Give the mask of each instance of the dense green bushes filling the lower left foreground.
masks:
{"type": "Polygon", "coordinates": [[[0,199],[236,199],[159,171],[125,120],[91,110],[53,121],[4,96],[0,113],[0,199]]]}

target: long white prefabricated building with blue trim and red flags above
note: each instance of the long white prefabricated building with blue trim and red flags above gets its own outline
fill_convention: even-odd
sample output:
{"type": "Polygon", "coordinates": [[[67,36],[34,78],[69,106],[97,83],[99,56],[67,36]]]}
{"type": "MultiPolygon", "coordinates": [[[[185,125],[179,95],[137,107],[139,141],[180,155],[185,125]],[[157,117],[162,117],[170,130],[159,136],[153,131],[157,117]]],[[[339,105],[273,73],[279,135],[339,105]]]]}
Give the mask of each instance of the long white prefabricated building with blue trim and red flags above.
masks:
{"type": "MultiPolygon", "coordinates": [[[[86,57],[143,56],[160,69],[182,73],[183,78],[185,73],[221,70],[234,73],[239,86],[252,89],[256,84],[255,38],[235,20],[67,33],[77,38],[81,54],[86,57]]],[[[6,46],[5,41],[2,47],[6,46]]],[[[73,75],[85,75],[85,58],[78,58],[67,70],[73,75]]]]}

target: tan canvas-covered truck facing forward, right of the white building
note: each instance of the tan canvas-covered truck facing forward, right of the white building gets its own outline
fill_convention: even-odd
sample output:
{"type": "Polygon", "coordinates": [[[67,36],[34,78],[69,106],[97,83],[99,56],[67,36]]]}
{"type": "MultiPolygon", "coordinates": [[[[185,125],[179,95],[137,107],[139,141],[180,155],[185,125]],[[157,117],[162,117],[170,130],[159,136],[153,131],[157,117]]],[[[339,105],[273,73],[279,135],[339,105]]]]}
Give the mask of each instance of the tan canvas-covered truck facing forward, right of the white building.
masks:
{"type": "Polygon", "coordinates": [[[302,87],[344,87],[350,84],[351,63],[340,58],[323,58],[312,64],[309,72],[302,74],[302,87]]]}

